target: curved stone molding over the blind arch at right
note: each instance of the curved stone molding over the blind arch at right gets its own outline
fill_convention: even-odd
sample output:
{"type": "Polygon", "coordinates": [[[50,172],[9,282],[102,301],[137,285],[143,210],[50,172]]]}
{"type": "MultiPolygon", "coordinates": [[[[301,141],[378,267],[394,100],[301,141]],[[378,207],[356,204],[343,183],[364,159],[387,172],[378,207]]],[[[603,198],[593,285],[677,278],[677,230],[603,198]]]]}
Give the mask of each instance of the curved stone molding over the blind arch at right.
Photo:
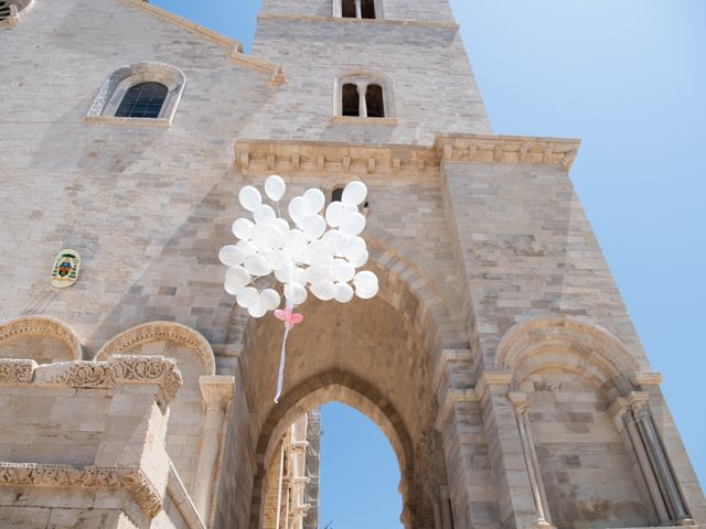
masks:
{"type": "MultiPolygon", "coordinates": [[[[601,382],[621,374],[634,374],[638,361],[608,331],[566,316],[541,317],[520,323],[501,339],[495,365],[517,370],[533,355],[550,347],[578,352],[582,360],[599,367],[601,382]]],[[[566,356],[567,366],[570,358],[566,356]]]]}

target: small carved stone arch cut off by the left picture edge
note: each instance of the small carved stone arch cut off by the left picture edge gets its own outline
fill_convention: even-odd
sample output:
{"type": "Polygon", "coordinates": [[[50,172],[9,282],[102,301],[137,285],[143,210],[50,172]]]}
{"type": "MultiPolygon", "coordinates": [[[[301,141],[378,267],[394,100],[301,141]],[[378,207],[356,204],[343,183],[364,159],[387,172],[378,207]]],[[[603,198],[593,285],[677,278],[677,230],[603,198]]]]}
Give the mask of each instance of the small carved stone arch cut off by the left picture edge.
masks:
{"type": "Polygon", "coordinates": [[[76,334],[61,321],[22,316],[0,325],[0,357],[31,358],[40,364],[81,360],[82,347],[76,334]],[[56,342],[61,353],[51,344],[56,342]]]}

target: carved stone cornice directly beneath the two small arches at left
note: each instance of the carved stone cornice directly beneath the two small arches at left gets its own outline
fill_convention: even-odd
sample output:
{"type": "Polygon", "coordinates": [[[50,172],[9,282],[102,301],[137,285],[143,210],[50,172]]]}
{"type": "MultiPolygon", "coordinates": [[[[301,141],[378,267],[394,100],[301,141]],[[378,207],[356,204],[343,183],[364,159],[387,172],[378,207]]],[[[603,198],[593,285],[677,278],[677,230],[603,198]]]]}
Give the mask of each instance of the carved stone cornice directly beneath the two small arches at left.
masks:
{"type": "Polygon", "coordinates": [[[124,384],[158,385],[169,402],[182,378],[176,364],[161,356],[114,356],[108,361],[41,366],[33,360],[0,359],[0,386],[108,389],[124,384]]]}

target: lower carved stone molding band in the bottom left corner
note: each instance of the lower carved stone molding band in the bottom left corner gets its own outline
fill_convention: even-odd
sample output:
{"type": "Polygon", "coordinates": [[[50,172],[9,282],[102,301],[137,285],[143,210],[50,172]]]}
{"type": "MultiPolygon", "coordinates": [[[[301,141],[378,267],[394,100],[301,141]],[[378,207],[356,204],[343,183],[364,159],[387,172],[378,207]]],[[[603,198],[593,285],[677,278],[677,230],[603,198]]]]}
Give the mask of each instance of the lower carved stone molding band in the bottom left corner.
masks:
{"type": "Polygon", "coordinates": [[[126,488],[150,518],[162,510],[162,498],[139,468],[0,462],[0,486],[126,488]]]}

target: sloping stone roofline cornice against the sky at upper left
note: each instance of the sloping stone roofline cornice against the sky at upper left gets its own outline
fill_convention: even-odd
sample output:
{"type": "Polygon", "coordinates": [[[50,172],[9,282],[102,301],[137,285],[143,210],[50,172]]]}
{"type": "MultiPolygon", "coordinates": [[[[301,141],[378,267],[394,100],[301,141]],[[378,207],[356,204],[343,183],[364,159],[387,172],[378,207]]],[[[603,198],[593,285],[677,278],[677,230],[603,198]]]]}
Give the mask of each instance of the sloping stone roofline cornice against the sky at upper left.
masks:
{"type": "Polygon", "coordinates": [[[182,28],[183,30],[190,31],[199,36],[206,39],[214,44],[226,47],[228,53],[228,58],[233,62],[258,72],[263,72],[269,74],[269,84],[270,86],[280,86],[286,82],[285,76],[282,74],[281,66],[269,63],[265,60],[253,57],[250,55],[246,55],[243,53],[243,44],[238,41],[231,39],[228,36],[222,35],[221,33],[216,33],[203,25],[199,25],[190,20],[186,20],[182,17],[178,17],[169,11],[152,6],[146,0],[122,0],[129,6],[133,6],[136,8],[141,9],[146,13],[151,14],[152,17],[157,17],[165,22],[170,22],[174,25],[182,28]]]}

